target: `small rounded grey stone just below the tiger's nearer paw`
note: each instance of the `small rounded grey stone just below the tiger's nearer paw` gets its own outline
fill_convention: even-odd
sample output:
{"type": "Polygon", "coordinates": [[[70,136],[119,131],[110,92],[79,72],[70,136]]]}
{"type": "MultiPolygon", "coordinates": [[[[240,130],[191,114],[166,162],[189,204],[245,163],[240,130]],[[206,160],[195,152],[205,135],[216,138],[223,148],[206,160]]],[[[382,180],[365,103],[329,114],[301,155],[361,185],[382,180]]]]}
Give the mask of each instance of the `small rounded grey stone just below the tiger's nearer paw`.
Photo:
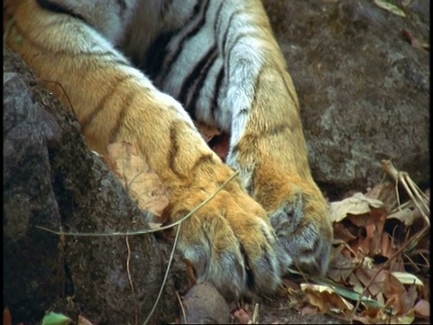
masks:
{"type": "Polygon", "coordinates": [[[188,324],[228,324],[230,311],[223,296],[211,283],[194,285],[183,300],[188,324]]]}

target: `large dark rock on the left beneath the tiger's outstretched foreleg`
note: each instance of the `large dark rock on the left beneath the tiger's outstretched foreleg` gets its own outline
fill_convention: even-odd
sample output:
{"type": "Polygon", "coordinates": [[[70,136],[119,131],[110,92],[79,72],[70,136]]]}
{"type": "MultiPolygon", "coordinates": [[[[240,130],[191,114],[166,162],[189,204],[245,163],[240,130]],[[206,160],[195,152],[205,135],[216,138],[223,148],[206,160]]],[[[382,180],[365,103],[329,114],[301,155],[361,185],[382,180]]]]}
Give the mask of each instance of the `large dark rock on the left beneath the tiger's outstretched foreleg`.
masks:
{"type": "MultiPolygon", "coordinates": [[[[49,309],[76,322],[82,313],[94,323],[143,323],[157,300],[167,255],[150,234],[60,237],[40,228],[110,234],[148,226],[88,150],[75,116],[8,49],[3,123],[3,292],[14,323],[34,324],[49,309]]],[[[169,277],[151,322],[171,322],[177,311],[169,277]]]]}

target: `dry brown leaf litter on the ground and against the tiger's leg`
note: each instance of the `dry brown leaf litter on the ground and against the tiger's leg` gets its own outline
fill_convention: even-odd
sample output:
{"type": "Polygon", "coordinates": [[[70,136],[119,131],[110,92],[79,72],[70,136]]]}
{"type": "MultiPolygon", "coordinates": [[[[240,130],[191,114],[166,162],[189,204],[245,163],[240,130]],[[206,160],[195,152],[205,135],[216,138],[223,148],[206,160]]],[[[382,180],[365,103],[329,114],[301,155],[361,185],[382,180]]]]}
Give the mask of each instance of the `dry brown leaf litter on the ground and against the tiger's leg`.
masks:
{"type": "MultiPolygon", "coordinates": [[[[206,132],[207,142],[220,135],[206,132]]],[[[104,160],[141,209],[161,216],[168,204],[165,189],[131,144],[110,144],[104,160]]],[[[389,161],[382,168],[393,182],[330,202],[335,240],[329,271],[324,277],[283,279],[281,290],[291,310],[363,324],[429,322],[429,190],[420,191],[389,161]],[[409,195],[404,203],[400,184],[409,195]]],[[[162,221],[153,221],[159,228],[162,221]]],[[[258,305],[241,304],[232,311],[232,322],[259,323],[258,311],[258,305]]],[[[4,320],[5,315],[6,310],[4,320]]]]}

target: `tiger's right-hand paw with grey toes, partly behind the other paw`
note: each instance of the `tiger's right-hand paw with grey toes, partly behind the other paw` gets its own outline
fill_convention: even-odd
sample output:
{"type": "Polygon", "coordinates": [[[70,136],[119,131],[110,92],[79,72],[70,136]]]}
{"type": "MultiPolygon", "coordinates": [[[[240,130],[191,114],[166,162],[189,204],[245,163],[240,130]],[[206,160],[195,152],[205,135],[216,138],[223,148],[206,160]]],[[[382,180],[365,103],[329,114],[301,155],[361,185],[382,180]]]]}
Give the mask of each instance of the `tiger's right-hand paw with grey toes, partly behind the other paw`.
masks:
{"type": "MultiPolygon", "coordinates": [[[[260,190],[260,187],[258,188],[260,190]]],[[[268,211],[272,228],[294,269],[326,274],[333,230],[327,201],[313,181],[297,176],[267,181],[257,200],[268,211]]]]}

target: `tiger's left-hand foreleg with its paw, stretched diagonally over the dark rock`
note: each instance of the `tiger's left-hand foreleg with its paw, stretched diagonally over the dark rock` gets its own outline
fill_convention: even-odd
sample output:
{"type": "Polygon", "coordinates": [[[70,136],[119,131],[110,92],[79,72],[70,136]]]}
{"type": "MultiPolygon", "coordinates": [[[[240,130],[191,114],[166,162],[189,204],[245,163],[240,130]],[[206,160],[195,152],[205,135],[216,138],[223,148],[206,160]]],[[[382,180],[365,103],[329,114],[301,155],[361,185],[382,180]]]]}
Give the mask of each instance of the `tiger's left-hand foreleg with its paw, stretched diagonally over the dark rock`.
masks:
{"type": "MultiPolygon", "coordinates": [[[[35,0],[13,2],[7,45],[42,80],[51,81],[47,88],[74,111],[92,149],[106,154],[108,144],[133,144],[169,192],[164,214],[171,220],[184,217],[234,172],[207,147],[179,102],[155,88],[86,23],[87,14],[100,12],[56,3],[53,12],[35,0]]],[[[100,4],[97,10],[110,8],[100,4]]],[[[274,290],[281,264],[290,262],[266,212],[238,179],[180,228],[178,248],[194,266],[198,282],[210,281],[227,294],[274,290]]]]}

